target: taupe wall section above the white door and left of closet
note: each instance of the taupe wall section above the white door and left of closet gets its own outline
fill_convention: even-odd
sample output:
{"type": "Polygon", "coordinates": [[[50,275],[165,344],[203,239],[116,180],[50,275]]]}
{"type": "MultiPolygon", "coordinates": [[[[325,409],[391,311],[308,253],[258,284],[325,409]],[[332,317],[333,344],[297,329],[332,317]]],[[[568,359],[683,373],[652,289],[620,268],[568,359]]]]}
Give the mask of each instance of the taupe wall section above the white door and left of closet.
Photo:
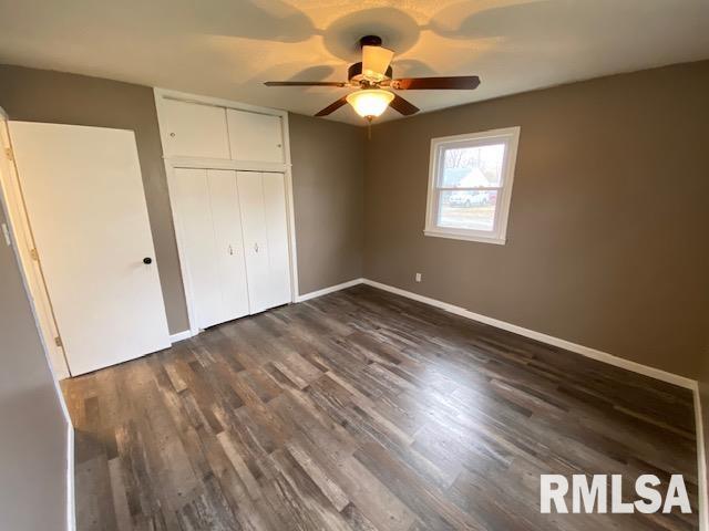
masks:
{"type": "Polygon", "coordinates": [[[10,119],[133,129],[171,333],[189,327],[153,90],[116,81],[0,65],[10,119]]]}

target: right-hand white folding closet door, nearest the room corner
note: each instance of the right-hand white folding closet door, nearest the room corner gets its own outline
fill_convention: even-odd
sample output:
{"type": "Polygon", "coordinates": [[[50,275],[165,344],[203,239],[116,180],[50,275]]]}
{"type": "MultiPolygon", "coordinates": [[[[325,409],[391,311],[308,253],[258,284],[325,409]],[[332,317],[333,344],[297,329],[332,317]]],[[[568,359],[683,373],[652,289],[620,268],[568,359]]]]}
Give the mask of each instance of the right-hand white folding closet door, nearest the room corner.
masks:
{"type": "Polygon", "coordinates": [[[237,171],[250,313],[290,301],[282,174],[237,171]]]}

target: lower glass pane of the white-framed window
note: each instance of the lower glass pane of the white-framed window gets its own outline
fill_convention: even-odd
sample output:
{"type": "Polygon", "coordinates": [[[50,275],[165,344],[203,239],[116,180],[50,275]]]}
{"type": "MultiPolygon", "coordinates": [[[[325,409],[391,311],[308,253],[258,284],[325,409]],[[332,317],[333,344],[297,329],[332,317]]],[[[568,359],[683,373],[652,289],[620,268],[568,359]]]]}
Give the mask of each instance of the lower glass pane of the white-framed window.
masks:
{"type": "Polygon", "coordinates": [[[444,190],[440,195],[439,227],[492,231],[500,190],[444,190]]]}

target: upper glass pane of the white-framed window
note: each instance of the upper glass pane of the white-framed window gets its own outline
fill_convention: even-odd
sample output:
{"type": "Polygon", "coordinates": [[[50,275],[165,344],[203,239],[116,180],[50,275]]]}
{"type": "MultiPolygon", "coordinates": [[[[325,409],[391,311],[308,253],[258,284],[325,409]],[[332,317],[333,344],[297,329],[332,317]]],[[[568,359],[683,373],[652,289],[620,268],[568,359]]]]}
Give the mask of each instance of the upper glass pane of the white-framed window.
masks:
{"type": "Polygon", "coordinates": [[[443,175],[439,177],[440,187],[502,186],[505,144],[443,148],[441,155],[443,156],[443,175]]]}

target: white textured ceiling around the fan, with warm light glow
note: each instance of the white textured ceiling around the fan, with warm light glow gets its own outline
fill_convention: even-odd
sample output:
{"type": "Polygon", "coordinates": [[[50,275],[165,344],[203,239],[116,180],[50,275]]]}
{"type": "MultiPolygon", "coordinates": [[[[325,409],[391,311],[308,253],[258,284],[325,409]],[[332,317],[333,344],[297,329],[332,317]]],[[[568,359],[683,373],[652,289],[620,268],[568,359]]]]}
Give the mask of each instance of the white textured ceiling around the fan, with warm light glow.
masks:
{"type": "MultiPolygon", "coordinates": [[[[345,81],[368,33],[395,50],[394,76],[481,76],[401,93],[431,111],[707,59],[709,0],[0,0],[0,63],[304,114],[348,88],[261,83],[345,81]]],[[[349,106],[331,118],[361,123],[349,106]]]]}

